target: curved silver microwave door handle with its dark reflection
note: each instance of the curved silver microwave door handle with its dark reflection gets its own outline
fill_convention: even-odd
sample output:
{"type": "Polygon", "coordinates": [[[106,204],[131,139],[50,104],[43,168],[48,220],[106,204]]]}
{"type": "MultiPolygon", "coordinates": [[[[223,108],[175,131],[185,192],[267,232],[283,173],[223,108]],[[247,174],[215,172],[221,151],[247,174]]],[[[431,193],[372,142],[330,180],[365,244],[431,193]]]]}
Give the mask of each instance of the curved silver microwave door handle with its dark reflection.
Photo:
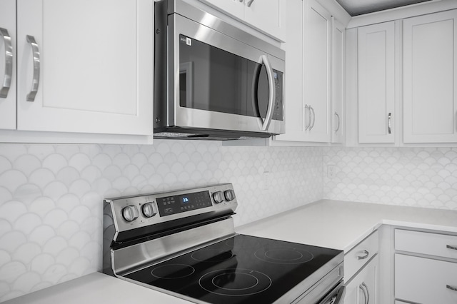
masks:
{"type": "Polygon", "coordinates": [[[251,101],[253,112],[258,117],[260,131],[268,131],[273,118],[274,97],[276,86],[273,78],[273,69],[266,55],[262,55],[256,64],[251,86],[251,101]]]}

